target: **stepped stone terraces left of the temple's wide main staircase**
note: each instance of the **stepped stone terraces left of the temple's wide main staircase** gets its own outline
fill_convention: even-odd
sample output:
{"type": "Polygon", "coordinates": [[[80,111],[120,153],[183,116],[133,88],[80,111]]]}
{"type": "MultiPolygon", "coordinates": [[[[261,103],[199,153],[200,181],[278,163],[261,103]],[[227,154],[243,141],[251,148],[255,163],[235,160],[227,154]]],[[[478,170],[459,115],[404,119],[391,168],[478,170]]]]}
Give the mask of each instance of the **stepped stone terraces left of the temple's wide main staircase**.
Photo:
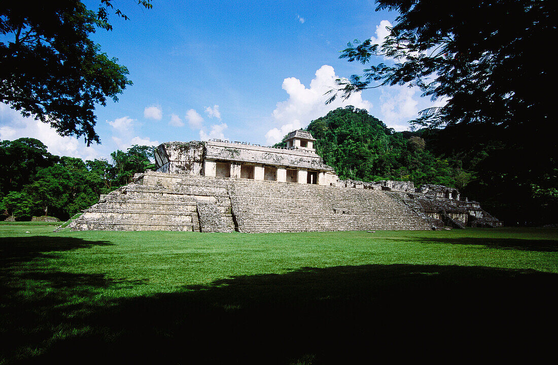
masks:
{"type": "MultiPolygon", "coordinates": [[[[169,175],[169,174],[165,174],[169,175]]],[[[181,177],[181,176],[180,176],[181,177]]],[[[163,178],[166,178],[163,176],[163,178]]],[[[234,230],[230,198],[226,184],[198,188],[196,179],[172,181],[166,184],[143,184],[143,181],[117,189],[104,196],[68,227],[71,230],[113,231],[224,231],[234,230]],[[219,225],[205,228],[208,221],[200,217],[199,202],[205,202],[220,213],[219,225]]],[[[204,214],[203,212],[201,214],[204,214]]],[[[215,220],[215,217],[212,217],[215,220]]]]}

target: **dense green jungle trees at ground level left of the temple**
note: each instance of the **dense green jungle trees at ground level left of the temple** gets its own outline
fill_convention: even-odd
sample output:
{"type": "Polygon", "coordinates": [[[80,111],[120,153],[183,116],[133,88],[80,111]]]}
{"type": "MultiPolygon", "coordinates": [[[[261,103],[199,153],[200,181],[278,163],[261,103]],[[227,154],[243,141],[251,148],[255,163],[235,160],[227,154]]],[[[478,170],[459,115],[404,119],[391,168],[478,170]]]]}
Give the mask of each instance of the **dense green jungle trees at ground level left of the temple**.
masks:
{"type": "Polygon", "coordinates": [[[154,167],[153,147],[133,145],[110,156],[113,163],[83,161],[53,155],[34,138],[0,141],[0,215],[66,220],[98,202],[99,194],[126,185],[134,173],[154,167]]]}

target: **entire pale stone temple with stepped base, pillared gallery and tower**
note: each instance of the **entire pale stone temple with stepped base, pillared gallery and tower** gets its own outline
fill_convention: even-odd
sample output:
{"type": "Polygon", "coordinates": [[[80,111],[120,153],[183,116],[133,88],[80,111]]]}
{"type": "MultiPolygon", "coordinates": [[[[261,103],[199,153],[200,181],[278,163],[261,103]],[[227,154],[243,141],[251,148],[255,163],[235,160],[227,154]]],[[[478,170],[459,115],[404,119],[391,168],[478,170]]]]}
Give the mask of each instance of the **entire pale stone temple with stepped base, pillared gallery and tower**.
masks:
{"type": "Polygon", "coordinates": [[[72,230],[296,232],[501,226],[456,189],[412,182],[340,180],[295,130],[286,148],[243,142],[169,142],[156,171],[108,195],[72,230]]]}

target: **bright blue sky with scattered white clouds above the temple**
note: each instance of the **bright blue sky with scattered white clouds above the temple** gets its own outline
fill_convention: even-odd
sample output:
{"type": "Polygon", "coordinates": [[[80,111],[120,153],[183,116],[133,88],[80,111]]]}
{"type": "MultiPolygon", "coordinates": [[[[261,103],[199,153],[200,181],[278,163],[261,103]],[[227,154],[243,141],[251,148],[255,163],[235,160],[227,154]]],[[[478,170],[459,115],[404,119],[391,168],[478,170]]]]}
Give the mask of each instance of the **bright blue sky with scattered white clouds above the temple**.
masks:
{"type": "MultiPolygon", "coordinates": [[[[98,1],[85,1],[95,8],[98,1]]],[[[129,69],[118,103],[97,108],[102,144],[59,137],[46,124],[0,104],[0,139],[38,138],[51,153],[108,158],[132,144],[224,138],[262,145],[344,105],[367,109],[396,130],[431,105],[420,90],[381,87],[324,105],[336,77],[361,64],[338,59],[347,42],[379,42],[396,13],[371,1],[153,1],[146,10],[114,0],[130,18],[93,38],[129,69]]],[[[373,63],[392,62],[376,57],[373,63]]]]}

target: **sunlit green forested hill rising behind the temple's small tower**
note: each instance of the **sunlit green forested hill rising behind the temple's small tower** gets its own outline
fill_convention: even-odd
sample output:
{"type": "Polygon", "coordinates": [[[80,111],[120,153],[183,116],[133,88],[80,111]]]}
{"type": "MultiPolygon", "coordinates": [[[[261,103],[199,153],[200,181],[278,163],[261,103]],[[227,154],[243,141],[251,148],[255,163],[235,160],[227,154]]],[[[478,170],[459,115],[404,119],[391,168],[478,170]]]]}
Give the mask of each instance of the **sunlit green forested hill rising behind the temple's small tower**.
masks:
{"type": "Polygon", "coordinates": [[[423,131],[394,132],[353,106],[312,120],[306,130],[316,138],[318,153],[342,179],[408,180],[417,186],[431,183],[457,188],[464,188],[471,179],[459,160],[432,153],[421,137],[423,131]]]}

